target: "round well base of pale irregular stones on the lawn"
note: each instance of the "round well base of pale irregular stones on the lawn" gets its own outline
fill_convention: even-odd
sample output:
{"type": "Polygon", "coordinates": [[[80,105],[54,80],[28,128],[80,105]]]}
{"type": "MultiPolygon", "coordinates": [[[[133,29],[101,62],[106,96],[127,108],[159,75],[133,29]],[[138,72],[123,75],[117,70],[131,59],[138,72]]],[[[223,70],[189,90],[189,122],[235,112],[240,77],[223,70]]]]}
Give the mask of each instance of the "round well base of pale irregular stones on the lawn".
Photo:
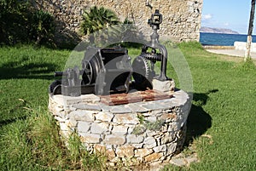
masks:
{"type": "Polygon", "coordinates": [[[62,137],[74,131],[90,152],[101,151],[108,163],[130,165],[168,162],[182,148],[189,115],[183,90],[164,100],[106,105],[101,96],[49,96],[49,110],[62,137]]]}

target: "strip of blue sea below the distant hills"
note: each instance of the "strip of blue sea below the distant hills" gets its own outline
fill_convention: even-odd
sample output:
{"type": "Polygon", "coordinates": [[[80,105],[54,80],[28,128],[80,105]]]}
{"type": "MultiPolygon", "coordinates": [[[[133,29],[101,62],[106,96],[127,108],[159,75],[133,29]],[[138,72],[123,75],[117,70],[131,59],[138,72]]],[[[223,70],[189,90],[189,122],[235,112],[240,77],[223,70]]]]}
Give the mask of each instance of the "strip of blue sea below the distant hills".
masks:
{"type": "MultiPolygon", "coordinates": [[[[247,42],[247,35],[207,32],[200,33],[200,43],[202,45],[234,46],[236,41],[247,42]]],[[[256,43],[256,36],[253,36],[253,43],[256,43]]]]}

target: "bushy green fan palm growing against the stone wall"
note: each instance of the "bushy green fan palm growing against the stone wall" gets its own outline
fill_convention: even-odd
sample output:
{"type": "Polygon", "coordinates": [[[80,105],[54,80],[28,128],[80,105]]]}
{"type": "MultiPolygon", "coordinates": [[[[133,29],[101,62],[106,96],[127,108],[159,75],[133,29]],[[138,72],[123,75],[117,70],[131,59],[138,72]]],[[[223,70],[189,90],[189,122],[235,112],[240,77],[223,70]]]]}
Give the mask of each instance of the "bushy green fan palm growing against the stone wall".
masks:
{"type": "Polygon", "coordinates": [[[90,43],[95,42],[97,31],[119,24],[119,18],[112,10],[96,6],[91,7],[90,12],[84,11],[83,20],[81,31],[84,35],[90,34],[90,43]]]}

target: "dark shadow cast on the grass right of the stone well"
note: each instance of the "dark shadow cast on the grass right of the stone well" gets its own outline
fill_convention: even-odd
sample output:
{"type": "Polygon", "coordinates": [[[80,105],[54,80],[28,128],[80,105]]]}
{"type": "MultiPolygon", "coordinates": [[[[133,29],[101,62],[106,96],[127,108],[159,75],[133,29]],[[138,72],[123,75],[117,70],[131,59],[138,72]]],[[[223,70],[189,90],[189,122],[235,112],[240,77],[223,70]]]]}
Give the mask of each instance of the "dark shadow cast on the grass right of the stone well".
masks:
{"type": "Polygon", "coordinates": [[[212,117],[204,111],[203,105],[207,104],[209,94],[218,92],[218,89],[209,90],[203,94],[193,94],[193,103],[187,120],[186,141],[184,146],[189,146],[193,140],[204,134],[212,127],[212,117]]]}

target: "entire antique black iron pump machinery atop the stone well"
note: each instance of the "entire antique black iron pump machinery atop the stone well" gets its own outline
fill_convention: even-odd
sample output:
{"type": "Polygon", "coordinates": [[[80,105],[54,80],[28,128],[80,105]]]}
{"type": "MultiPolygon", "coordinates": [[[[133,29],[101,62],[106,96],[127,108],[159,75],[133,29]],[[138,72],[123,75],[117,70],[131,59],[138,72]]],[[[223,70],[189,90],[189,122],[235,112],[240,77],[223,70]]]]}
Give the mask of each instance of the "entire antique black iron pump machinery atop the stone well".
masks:
{"type": "Polygon", "coordinates": [[[166,77],[167,50],[159,42],[162,14],[155,10],[148,20],[153,33],[150,42],[143,45],[140,55],[133,60],[128,50],[120,46],[113,48],[87,48],[82,60],[82,69],[74,66],[67,71],[55,72],[62,76],[49,86],[50,94],[79,96],[80,94],[128,93],[130,89],[152,88],[152,80],[168,80],[166,77]],[[160,61],[160,74],[154,71],[154,64],[160,61]],[[133,79],[132,79],[133,77],[133,79]]]}

